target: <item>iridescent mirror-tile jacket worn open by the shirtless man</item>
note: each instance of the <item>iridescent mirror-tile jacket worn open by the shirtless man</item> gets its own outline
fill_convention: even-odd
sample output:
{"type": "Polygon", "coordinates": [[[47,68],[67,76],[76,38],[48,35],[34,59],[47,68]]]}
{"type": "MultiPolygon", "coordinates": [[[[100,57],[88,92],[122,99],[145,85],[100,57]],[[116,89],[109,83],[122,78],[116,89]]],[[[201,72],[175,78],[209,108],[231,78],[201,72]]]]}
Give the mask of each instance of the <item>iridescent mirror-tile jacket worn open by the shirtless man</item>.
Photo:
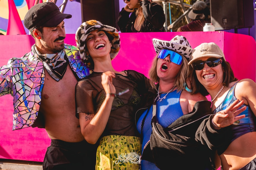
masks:
{"type": "MultiPolygon", "coordinates": [[[[79,80],[88,76],[90,70],[80,58],[78,48],[67,44],[64,48],[76,78],[79,80]]],[[[7,65],[0,68],[0,96],[13,96],[12,130],[30,127],[37,119],[44,81],[43,62],[32,51],[22,58],[10,59],[7,65]]]]}

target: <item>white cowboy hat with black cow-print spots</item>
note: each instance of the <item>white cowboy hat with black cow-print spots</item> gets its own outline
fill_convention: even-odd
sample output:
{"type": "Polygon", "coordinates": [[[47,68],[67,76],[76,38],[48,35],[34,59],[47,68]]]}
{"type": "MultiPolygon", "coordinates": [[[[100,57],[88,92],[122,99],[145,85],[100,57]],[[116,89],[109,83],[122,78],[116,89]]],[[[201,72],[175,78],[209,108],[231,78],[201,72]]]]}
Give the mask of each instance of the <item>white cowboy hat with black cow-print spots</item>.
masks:
{"type": "Polygon", "coordinates": [[[195,51],[191,48],[187,38],[182,35],[176,35],[170,41],[159,40],[157,38],[153,38],[152,41],[157,54],[162,49],[172,50],[185,56],[187,60],[190,61],[192,53],[195,51]]]}

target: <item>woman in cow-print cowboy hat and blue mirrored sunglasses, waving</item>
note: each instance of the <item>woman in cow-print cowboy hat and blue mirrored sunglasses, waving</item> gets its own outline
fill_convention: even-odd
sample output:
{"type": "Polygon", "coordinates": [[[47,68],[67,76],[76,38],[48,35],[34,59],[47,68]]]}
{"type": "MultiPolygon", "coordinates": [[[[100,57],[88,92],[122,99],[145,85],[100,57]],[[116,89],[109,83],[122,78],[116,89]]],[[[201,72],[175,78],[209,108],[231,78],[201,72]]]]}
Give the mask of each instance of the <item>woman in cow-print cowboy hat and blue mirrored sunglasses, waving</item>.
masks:
{"type": "MultiPolygon", "coordinates": [[[[149,89],[148,95],[145,97],[146,100],[142,103],[144,107],[139,109],[135,116],[137,129],[143,139],[141,169],[210,170],[219,167],[220,160],[218,157],[215,157],[217,156],[216,149],[218,146],[223,145],[223,139],[230,133],[229,123],[231,122],[232,124],[232,121],[241,118],[241,116],[237,115],[244,111],[244,109],[239,109],[243,103],[234,102],[225,112],[218,112],[215,115],[212,114],[210,110],[211,102],[202,101],[206,100],[205,96],[208,95],[208,92],[202,90],[199,85],[194,83],[194,77],[192,76],[193,69],[192,67],[187,67],[195,51],[191,48],[187,38],[181,35],[176,35],[170,41],[153,38],[153,45],[157,56],[153,59],[152,66],[149,70],[152,88],[149,89]],[[191,85],[192,90],[187,87],[186,82],[189,82],[188,84],[191,85]],[[165,144],[166,148],[172,151],[170,153],[175,154],[156,154],[162,148],[153,148],[154,146],[150,143],[151,141],[154,142],[154,140],[151,140],[154,137],[151,135],[152,103],[156,104],[157,123],[162,126],[163,131],[166,132],[168,129],[165,128],[171,124],[175,124],[176,127],[180,128],[180,133],[175,135],[185,136],[187,141],[189,141],[185,145],[188,144],[187,147],[192,149],[188,149],[188,152],[180,153],[179,147],[181,145],[175,141],[176,139],[171,141],[171,138],[161,134],[161,137],[165,138],[166,141],[173,142],[166,142],[165,144]],[[205,116],[199,125],[193,125],[195,119],[191,119],[194,122],[189,126],[190,129],[186,129],[184,126],[187,123],[186,119],[195,112],[199,114],[208,112],[208,117],[205,116]],[[221,124],[219,127],[223,128],[219,128],[211,121],[213,116],[221,124]],[[201,134],[201,132],[204,132],[204,134],[201,134]],[[148,143],[150,144],[151,152],[148,153],[148,150],[146,150],[144,154],[143,151],[147,148],[148,143]],[[153,159],[148,156],[149,154],[153,154],[153,159]],[[159,158],[156,155],[159,155],[159,158]],[[159,162],[164,162],[161,160],[167,161],[165,161],[166,163],[159,164],[159,162]]],[[[159,131],[161,132],[160,127],[159,131]]],[[[155,138],[157,139],[157,137],[155,138]]]]}

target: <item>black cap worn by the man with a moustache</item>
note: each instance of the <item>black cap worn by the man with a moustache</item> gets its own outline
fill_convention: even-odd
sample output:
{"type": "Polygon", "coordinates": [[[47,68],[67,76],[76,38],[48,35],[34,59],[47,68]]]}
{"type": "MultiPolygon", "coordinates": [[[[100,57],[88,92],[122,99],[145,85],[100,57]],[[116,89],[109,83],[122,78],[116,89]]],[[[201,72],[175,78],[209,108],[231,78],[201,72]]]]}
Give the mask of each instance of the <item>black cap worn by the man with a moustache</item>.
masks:
{"type": "Polygon", "coordinates": [[[31,32],[36,27],[56,27],[65,18],[71,18],[70,14],[60,12],[53,2],[43,2],[34,5],[24,17],[24,25],[31,32]]]}

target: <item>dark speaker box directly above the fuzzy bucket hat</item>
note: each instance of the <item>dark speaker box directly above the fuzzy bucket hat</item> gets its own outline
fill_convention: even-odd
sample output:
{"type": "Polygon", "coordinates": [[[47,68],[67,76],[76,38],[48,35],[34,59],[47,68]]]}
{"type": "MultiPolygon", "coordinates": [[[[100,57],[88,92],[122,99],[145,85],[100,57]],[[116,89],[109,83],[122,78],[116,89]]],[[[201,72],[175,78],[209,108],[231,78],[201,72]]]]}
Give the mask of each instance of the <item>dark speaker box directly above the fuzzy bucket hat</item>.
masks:
{"type": "Polygon", "coordinates": [[[81,0],[82,22],[97,20],[104,25],[116,27],[119,0],[81,0]]]}

